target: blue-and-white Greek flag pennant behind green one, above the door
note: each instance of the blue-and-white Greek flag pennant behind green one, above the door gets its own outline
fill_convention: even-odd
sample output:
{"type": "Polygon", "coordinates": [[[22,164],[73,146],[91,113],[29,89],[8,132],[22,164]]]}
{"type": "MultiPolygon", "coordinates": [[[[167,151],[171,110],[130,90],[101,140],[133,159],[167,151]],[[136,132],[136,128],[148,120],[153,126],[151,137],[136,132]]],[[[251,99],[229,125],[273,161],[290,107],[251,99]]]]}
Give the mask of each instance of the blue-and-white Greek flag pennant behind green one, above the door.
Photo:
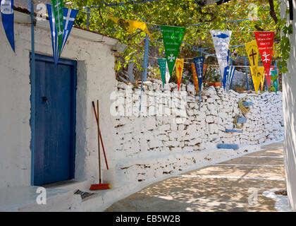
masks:
{"type": "MultiPolygon", "coordinates": [[[[58,54],[58,35],[56,30],[56,23],[54,21],[54,13],[51,10],[51,5],[47,4],[47,11],[49,14],[49,25],[51,29],[51,42],[52,42],[52,50],[54,52],[54,64],[58,64],[58,58],[60,55],[58,54]]],[[[75,18],[77,16],[78,11],[70,8],[63,8],[63,41],[61,46],[61,52],[66,45],[70,32],[72,30],[75,18]]]]}

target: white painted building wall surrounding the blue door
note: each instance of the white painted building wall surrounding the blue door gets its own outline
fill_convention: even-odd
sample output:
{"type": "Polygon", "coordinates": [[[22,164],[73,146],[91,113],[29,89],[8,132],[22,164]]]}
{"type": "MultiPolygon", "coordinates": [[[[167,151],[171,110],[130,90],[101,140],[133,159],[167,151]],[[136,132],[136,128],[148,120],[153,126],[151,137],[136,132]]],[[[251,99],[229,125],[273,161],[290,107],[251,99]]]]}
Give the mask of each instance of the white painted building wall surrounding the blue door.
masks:
{"type": "MultiPolygon", "coordinates": [[[[0,187],[30,185],[30,15],[15,11],[16,54],[0,25],[0,187]]],[[[2,24],[2,22],[1,22],[2,24]]],[[[78,61],[75,179],[97,182],[97,129],[92,100],[101,102],[101,133],[112,167],[113,126],[110,93],[115,89],[114,56],[117,40],[73,28],[63,50],[66,59],[78,61]],[[102,41],[102,42],[94,42],[102,41]]],[[[52,55],[48,21],[35,27],[35,50],[52,55]]]]}

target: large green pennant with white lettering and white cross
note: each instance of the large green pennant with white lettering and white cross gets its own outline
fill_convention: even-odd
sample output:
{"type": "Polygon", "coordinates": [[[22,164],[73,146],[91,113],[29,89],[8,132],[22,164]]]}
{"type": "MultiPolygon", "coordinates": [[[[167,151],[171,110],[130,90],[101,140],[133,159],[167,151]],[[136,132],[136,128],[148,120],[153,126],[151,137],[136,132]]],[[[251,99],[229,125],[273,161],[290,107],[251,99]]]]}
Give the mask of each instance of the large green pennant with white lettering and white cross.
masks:
{"type": "MultiPolygon", "coordinates": [[[[166,61],[168,62],[168,71],[173,75],[173,67],[178,57],[180,45],[184,37],[185,28],[171,27],[161,25],[162,37],[164,40],[164,50],[166,52],[166,61]]],[[[178,67],[177,67],[178,71],[178,67]]]]}

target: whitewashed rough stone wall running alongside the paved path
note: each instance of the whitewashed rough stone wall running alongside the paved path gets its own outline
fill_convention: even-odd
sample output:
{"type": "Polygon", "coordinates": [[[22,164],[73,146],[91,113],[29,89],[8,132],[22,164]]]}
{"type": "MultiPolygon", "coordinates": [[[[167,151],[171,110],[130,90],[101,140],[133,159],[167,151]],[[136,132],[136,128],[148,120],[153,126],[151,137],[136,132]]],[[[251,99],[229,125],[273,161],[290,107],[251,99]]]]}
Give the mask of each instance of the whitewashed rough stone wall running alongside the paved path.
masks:
{"type": "MultiPolygon", "coordinates": [[[[115,107],[121,114],[113,117],[116,129],[116,169],[118,180],[124,182],[154,181],[202,165],[211,160],[217,143],[258,145],[283,139],[282,93],[238,94],[225,93],[222,88],[210,87],[203,91],[201,109],[193,85],[181,85],[187,94],[185,117],[168,115],[173,106],[155,101],[159,95],[172,95],[176,85],[162,88],[161,81],[147,82],[142,95],[142,115],[139,114],[140,87],[118,83],[115,107]],[[226,133],[233,128],[236,114],[240,113],[238,100],[246,97],[253,102],[247,114],[243,133],[226,133]],[[154,102],[149,102],[149,99],[154,102]],[[131,105],[132,104],[132,105],[131,105]],[[145,107],[147,111],[145,112],[145,107]],[[151,108],[163,107],[163,114],[151,108]],[[169,110],[166,109],[169,107],[169,110]],[[129,116],[127,116],[127,113],[129,116]],[[166,115],[167,114],[167,115],[166,115]]],[[[181,97],[180,97],[181,98],[181,97]]],[[[180,110],[180,109],[179,109],[180,110]]],[[[111,107],[112,112],[112,107],[111,107]]],[[[219,150],[218,155],[226,155],[219,150]]],[[[231,150],[232,152],[235,152],[231,150]]]]}

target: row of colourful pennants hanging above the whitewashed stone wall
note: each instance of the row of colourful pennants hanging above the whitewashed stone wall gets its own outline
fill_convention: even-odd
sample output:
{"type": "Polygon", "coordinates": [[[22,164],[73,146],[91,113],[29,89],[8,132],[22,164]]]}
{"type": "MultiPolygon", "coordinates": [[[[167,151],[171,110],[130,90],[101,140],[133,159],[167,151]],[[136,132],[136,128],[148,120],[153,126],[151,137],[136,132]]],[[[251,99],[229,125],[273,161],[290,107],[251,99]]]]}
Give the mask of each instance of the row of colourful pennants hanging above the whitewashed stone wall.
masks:
{"type": "MultiPolygon", "coordinates": [[[[180,83],[182,80],[182,72],[184,67],[184,59],[176,59],[178,57],[178,52],[180,48],[181,39],[183,39],[183,35],[185,29],[181,30],[178,27],[170,27],[170,26],[161,26],[161,31],[163,33],[164,40],[164,49],[166,52],[166,62],[169,65],[168,69],[170,72],[170,76],[173,73],[173,66],[175,65],[176,75],[177,75],[177,83],[178,90],[180,89],[180,83]],[[177,42],[179,41],[179,42],[177,42]]],[[[229,92],[230,85],[233,80],[233,76],[235,74],[235,66],[230,66],[230,56],[229,56],[229,44],[231,39],[231,31],[229,30],[211,30],[211,36],[214,42],[214,47],[216,50],[216,57],[218,59],[218,66],[221,71],[221,81],[223,83],[223,88],[226,92],[229,92]]],[[[254,32],[255,40],[252,42],[248,42],[245,44],[245,49],[247,52],[247,56],[249,58],[249,63],[251,65],[251,75],[252,81],[254,84],[254,89],[256,93],[258,93],[259,86],[261,84],[261,90],[263,89],[264,78],[266,78],[268,87],[271,83],[271,59],[273,53],[273,39],[274,32],[254,32]],[[261,56],[261,61],[264,66],[258,66],[259,64],[259,55],[261,56]]],[[[202,77],[203,77],[203,69],[204,69],[204,59],[195,58],[194,64],[192,64],[192,75],[193,81],[195,82],[195,87],[202,90],[202,77]],[[198,85],[197,85],[198,81],[198,85]]],[[[159,59],[159,66],[161,69],[164,68],[164,59],[159,59]],[[160,65],[162,64],[162,65],[160,65]]],[[[276,71],[273,71],[276,73],[276,71]]],[[[164,73],[163,73],[164,75],[164,73]]],[[[163,79],[164,83],[167,83],[166,80],[163,79]]],[[[276,81],[277,82],[277,81],[276,81]]],[[[276,87],[277,84],[274,84],[276,87]]],[[[276,87],[277,91],[277,87],[276,87]]]]}

